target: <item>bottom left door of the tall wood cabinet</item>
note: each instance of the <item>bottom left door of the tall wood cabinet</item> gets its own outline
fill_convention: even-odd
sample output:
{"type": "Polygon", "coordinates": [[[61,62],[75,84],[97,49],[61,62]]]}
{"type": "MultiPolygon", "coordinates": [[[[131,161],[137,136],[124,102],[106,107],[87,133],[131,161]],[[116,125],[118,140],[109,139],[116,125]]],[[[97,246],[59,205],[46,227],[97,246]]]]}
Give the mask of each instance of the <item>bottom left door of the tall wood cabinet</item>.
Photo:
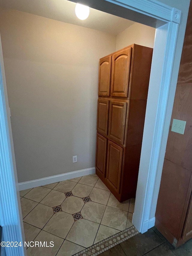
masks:
{"type": "Polygon", "coordinates": [[[96,145],[96,170],[105,177],[106,169],[106,155],[107,155],[107,139],[101,134],[97,133],[97,145],[96,145]]]}

